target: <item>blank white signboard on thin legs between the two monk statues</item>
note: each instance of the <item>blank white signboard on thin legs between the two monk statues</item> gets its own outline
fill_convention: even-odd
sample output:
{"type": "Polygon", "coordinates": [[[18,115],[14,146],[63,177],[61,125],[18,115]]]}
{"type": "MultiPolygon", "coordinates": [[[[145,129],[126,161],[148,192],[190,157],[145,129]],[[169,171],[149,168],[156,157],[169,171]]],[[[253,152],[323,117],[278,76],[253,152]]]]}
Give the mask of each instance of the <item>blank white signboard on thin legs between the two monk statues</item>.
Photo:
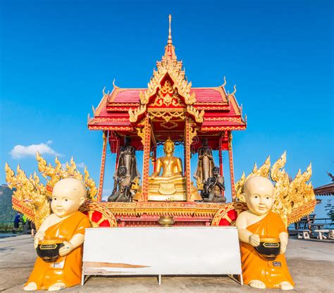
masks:
{"type": "Polygon", "coordinates": [[[87,275],[241,275],[236,227],[114,227],[85,232],[87,275]]]}

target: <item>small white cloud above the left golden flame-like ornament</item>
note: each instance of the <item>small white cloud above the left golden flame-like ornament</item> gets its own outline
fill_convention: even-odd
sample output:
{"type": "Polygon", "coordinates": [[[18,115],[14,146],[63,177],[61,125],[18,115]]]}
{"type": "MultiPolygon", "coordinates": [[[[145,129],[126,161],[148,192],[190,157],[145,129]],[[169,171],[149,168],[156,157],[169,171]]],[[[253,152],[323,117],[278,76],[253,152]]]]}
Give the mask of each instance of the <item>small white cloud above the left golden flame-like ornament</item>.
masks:
{"type": "Polygon", "coordinates": [[[47,142],[47,144],[30,144],[30,146],[22,146],[20,144],[13,147],[11,150],[11,156],[13,158],[24,158],[27,156],[36,156],[36,152],[39,154],[49,154],[53,156],[61,156],[54,149],[51,148],[51,140],[47,142]]]}

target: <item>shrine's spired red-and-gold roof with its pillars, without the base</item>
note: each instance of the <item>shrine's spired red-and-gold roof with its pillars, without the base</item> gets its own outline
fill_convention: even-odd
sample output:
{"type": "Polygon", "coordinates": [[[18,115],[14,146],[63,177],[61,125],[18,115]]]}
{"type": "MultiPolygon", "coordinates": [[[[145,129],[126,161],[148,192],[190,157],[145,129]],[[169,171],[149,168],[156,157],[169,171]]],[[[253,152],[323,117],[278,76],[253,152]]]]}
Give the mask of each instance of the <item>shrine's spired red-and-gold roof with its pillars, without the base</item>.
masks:
{"type": "Polygon", "coordinates": [[[205,140],[206,146],[218,150],[220,175],[223,176],[222,152],[228,151],[232,198],[235,199],[233,174],[233,130],[245,130],[246,119],[237,103],[234,90],[229,94],[224,84],[218,87],[192,87],[183,69],[183,62],[175,55],[171,36],[171,15],[169,18],[168,42],[161,61],[156,62],[156,70],[147,88],[117,87],[105,93],[94,117],[88,118],[89,130],[103,132],[101,173],[98,201],[104,182],[106,146],[116,153],[116,169],[120,151],[126,144],[136,150],[143,150],[141,193],[137,201],[149,201],[149,164],[156,161],[156,146],[171,139],[175,144],[183,144],[183,161],[186,182],[185,201],[192,197],[192,174],[190,156],[198,151],[205,140]]]}

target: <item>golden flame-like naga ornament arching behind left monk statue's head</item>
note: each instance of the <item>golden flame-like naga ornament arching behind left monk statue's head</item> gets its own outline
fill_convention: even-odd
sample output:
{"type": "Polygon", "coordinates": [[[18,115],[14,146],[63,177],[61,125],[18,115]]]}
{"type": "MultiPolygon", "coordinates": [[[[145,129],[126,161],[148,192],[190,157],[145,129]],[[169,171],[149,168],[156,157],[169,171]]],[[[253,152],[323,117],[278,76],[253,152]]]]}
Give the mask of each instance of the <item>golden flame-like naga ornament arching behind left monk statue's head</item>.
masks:
{"type": "Polygon", "coordinates": [[[72,177],[84,182],[87,189],[87,200],[96,201],[97,187],[94,180],[89,177],[87,168],[85,168],[83,175],[77,170],[73,158],[70,159],[70,163],[66,163],[65,168],[58,158],[55,159],[55,167],[48,164],[38,152],[36,159],[39,172],[47,179],[47,185],[40,182],[36,172],[27,177],[20,166],[16,169],[16,175],[8,163],[6,163],[5,170],[8,187],[16,189],[12,197],[13,208],[32,220],[37,229],[51,212],[49,201],[54,185],[63,178],[72,177]]]}

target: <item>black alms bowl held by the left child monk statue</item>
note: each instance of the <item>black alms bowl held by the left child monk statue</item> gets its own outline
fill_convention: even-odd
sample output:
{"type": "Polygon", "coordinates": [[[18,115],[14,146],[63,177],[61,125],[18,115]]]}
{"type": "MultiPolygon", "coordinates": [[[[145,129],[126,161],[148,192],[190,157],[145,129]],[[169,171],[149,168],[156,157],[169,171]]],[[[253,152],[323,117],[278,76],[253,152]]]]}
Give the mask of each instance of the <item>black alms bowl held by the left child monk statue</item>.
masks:
{"type": "Polygon", "coordinates": [[[37,255],[47,263],[54,262],[59,257],[59,249],[64,246],[64,239],[44,239],[38,242],[37,255]]]}

